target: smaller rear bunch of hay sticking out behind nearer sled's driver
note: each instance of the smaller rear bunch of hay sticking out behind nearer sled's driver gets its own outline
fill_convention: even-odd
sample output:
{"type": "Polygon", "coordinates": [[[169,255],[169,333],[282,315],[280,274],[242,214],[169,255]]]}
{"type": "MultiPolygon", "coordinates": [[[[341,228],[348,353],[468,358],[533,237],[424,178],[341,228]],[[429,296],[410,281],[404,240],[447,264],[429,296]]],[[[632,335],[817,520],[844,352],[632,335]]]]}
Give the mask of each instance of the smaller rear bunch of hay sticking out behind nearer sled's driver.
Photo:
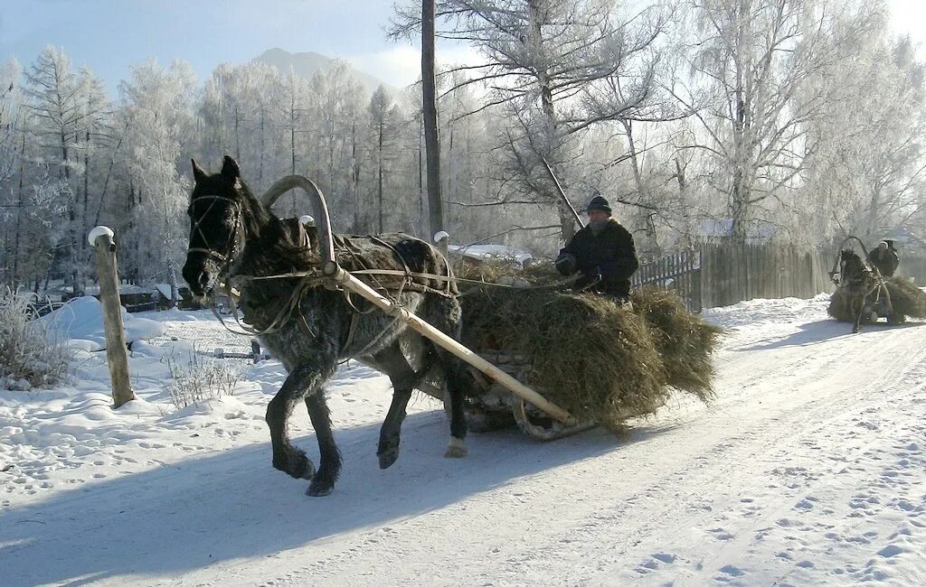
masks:
{"type": "Polygon", "coordinates": [[[650,325],[656,347],[666,366],[669,385],[707,401],[713,397],[714,364],[720,327],[688,312],[674,291],[645,287],[631,293],[633,310],[650,325]]]}

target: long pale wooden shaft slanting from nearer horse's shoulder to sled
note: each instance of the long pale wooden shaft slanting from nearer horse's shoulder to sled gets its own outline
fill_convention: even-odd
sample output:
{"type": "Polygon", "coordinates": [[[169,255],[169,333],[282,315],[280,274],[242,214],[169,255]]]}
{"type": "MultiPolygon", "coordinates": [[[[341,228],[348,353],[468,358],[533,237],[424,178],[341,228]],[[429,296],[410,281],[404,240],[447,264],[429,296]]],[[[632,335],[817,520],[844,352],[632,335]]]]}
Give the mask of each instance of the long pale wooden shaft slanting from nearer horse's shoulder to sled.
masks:
{"type": "Polygon", "coordinates": [[[337,264],[330,263],[326,265],[324,273],[325,275],[331,277],[335,283],[340,284],[350,291],[353,291],[362,296],[364,299],[369,300],[373,305],[378,307],[383,312],[400,318],[421,336],[428,338],[441,348],[452,352],[461,360],[468,362],[470,365],[482,373],[485,373],[499,384],[505,385],[505,387],[507,387],[511,393],[520,397],[521,399],[531,402],[540,410],[544,410],[544,412],[551,418],[554,418],[558,422],[562,422],[567,426],[574,426],[577,423],[576,419],[570,416],[568,411],[563,410],[556,404],[547,401],[543,396],[538,394],[527,385],[523,385],[511,375],[494,366],[494,364],[491,362],[482,359],[482,357],[480,357],[478,354],[467,349],[458,343],[457,340],[451,336],[445,335],[443,332],[434,328],[431,324],[428,324],[415,314],[408,312],[405,308],[397,306],[392,301],[383,298],[367,284],[357,279],[357,277],[354,275],[350,275],[337,264]]]}

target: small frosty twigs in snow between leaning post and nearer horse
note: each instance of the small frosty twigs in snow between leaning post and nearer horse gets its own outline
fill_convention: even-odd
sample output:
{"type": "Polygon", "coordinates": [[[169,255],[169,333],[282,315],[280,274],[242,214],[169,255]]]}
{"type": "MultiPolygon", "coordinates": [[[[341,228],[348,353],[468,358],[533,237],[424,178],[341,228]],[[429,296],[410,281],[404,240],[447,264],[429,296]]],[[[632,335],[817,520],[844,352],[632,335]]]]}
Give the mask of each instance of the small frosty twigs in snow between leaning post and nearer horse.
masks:
{"type": "Polygon", "coordinates": [[[195,352],[189,366],[168,361],[173,382],[169,383],[170,401],[178,410],[198,404],[209,397],[231,396],[241,381],[241,365],[229,361],[206,359],[195,352]]]}

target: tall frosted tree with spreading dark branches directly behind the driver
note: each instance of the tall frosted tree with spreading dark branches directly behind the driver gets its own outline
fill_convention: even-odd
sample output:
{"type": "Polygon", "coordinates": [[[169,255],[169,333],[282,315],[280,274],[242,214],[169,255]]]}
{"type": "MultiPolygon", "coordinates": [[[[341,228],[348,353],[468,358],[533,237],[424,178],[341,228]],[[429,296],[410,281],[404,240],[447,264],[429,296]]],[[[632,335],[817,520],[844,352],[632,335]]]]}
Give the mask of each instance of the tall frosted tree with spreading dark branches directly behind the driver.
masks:
{"type": "MultiPolygon", "coordinates": [[[[557,202],[564,237],[574,231],[573,214],[548,177],[544,160],[569,186],[585,128],[642,115],[655,90],[656,59],[644,57],[668,23],[661,6],[622,18],[605,0],[444,0],[438,37],[466,41],[485,57],[460,83],[485,82],[491,98],[481,108],[504,104],[511,124],[500,136],[510,153],[500,165],[519,177],[509,185],[511,201],[557,202]]],[[[420,26],[419,3],[400,6],[392,34],[407,36],[420,26]]]]}

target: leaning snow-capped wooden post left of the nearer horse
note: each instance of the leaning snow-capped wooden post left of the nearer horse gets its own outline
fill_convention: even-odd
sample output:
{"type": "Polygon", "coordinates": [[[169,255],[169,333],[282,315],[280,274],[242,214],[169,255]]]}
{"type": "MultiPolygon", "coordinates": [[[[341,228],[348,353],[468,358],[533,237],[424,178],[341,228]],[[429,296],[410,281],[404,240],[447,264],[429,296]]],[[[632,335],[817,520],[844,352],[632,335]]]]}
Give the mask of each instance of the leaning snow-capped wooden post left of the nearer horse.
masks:
{"type": "Polygon", "coordinates": [[[125,331],[122,328],[122,306],[119,303],[119,274],[116,271],[116,242],[113,231],[96,226],[87,236],[96,250],[96,275],[100,281],[100,301],[103,304],[103,325],[106,328],[106,363],[113,385],[113,404],[119,408],[135,398],[129,380],[129,358],[126,355],[125,331]]]}

